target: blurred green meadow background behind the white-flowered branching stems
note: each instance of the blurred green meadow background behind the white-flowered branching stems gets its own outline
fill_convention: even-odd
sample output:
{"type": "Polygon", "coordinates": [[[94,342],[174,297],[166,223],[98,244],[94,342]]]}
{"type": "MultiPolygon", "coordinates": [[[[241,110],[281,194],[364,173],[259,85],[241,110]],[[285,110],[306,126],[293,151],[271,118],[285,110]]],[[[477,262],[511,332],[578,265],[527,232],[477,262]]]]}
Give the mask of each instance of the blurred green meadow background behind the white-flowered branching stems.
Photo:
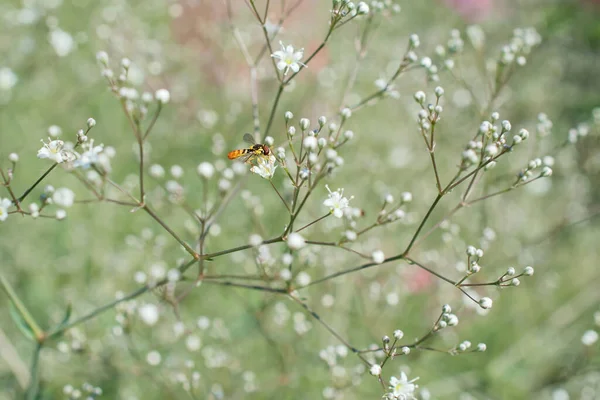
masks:
{"type": "MultiPolygon", "coordinates": [[[[233,24],[251,53],[257,54],[263,44],[260,27],[244,2],[232,3],[233,24]]],[[[272,3],[269,18],[275,21],[280,2],[272,3]]],[[[264,9],[264,2],[257,4],[264,9]]],[[[443,181],[455,173],[461,151],[481,123],[478,110],[485,105],[486,88],[478,78],[480,55],[468,45],[465,27],[481,25],[486,32],[483,56],[496,59],[514,28],[533,26],[542,44],[516,71],[493,110],[509,119],[515,132],[524,127],[532,133],[538,114],[546,113],[553,121],[552,133],[544,138],[532,135],[529,143],[486,175],[478,190],[507,187],[528,160],[547,154],[556,158],[551,183],[539,181],[461,210],[449,227],[428,237],[413,256],[458,279],[456,265],[464,261],[466,245],[485,245],[480,281],[495,280],[509,266],[519,271],[532,265],[536,273],[523,278],[518,288],[478,289],[478,296],[494,299],[493,309],[484,315],[451,285],[406,263],[346,275],[303,290],[302,296],[358,348],[379,343],[394,329],[402,329],[408,341],[417,338],[431,327],[442,304],[450,304],[460,324],[442,331],[432,346],[449,349],[470,340],[486,343],[488,350],[459,356],[414,351],[390,361],[384,375],[397,376],[403,370],[410,378],[419,376],[420,387],[427,389],[420,398],[600,398],[598,342],[585,346],[581,341],[585,331],[598,331],[600,320],[596,314],[594,321],[600,312],[600,231],[595,218],[600,210],[600,146],[598,123],[591,122],[592,109],[600,106],[600,5],[574,0],[398,4],[400,13],[374,19],[376,28],[350,98],[364,97],[376,89],[376,79],[391,75],[409,34],[421,38],[419,55],[437,62],[434,49],[447,42],[453,28],[463,32],[466,42],[455,72],[473,86],[476,98],[447,72],[440,72],[440,82],[432,83],[422,71],[411,71],[396,84],[399,99],[367,107],[348,121],[346,128],[355,132],[355,139],[340,151],[344,167],[327,183],[354,196],[351,204],[365,211],[359,226],[374,221],[385,194],[399,198],[409,191],[414,198],[406,223],[375,229],[355,248],[368,254],[374,249],[386,255],[401,252],[435,197],[431,164],[414,122],[416,90],[428,96],[433,96],[437,84],[446,90],[436,145],[443,181]],[[560,147],[568,130],[583,122],[589,124],[590,134],[560,147]],[[495,239],[483,239],[486,228],[493,229],[495,239]],[[325,295],[335,299],[332,306],[323,304],[325,295]]],[[[305,0],[278,38],[309,54],[327,31],[330,8],[328,1],[305,0]]],[[[96,52],[104,50],[115,70],[122,57],[132,61],[129,79],[140,92],[170,90],[172,101],[150,137],[148,163],[167,171],[175,164],[183,167],[179,181],[186,201],[203,207],[204,189],[196,166],[203,161],[223,164],[226,152],[240,145],[243,132],[252,130],[248,68],[233,40],[225,3],[3,0],[0,21],[0,160],[8,168],[9,153],[19,154],[16,192],[25,190],[49,166],[47,160],[36,158],[48,127],[57,125],[64,140],[74,140],[89,117],[97,121],[90,137],[116,150],[112,179],[135,186],[135,140],[95,59],[96,52]]],[[[285,140],[284,111],[316,121],[321,115],[331,119],[343,105],[363,24],[357,19],[337,31],[296,78],[293,90],[284,93],[271,131],[276,144],[285,140]]],[[[268,57],[259,65],[258,77],[264,128],[277,89],[268,57]]],[[[289,185],[284,185],[280,172],[274,183],[287,193],[289,185]]],[[[193,242],[197,227],[168,201],[160,188],[165,180],[149,179],[149,202],[193,242]]],[[[267,181],[255,175],[241,181],[246,192],[218,220],[219,229],[207,241],[208,251],[246,244],[253,233],[275,237],[287,223],[286,210],[267,181]]],[[[71,188],[77,200],[90,198],[85,187],[62,170],[44,183],[71,188]]],[[[310,198],[301,224],[323,214],[327,192],[321,189],[310,198]]],[[[36,189],[30,200],[41,191],[42,187],[36,189]]],[[[210,201],[218,201],[217,180],[210,182],[207,192],[210,201]]],[[[440,220],[459,195],[444,198],[428,226],[440,220]]],[[[329,218],[307,230],[306,237],[335,241],[343,230],[341,222],[329,218]]],[[[75,204],[61,222],[11,215],[0,224],[0,232],[1,272],[44,328],[60,321],[67,304],[72,303],[74,317],[81,316],[113,300],[115,293],[139,287],[136,272],[148,273],[157,264],[168,269],[185,257],[147,215],[115,204],[75,204]]],[[[285,246],[273,245],[270,250],[279,257],[285,246]]],[[[302,268],[312,279],[363,262],[329,247],[310,247],[302,254],[302,268]]],[[[254,257],[252,251],[236,253],[216,259],[208,268],[215,274],[251,274],[256,272],[254,257]]],[[[182,283],[178,290],[188,286],[182,283]]],[[[327,387],[336,388],[336,398],[381,396],[379,383],[361,373],[360,360],[353,354],[338,360],[341,368],[330,368],[319,357],[322,349],[340,343],[284,297],[203,284],[181,303],[178,315],[153,294],[137,302],[159,305],[156,325],[146,326],[133,315],[129,331],[115,335],[116,313],[108,311],[48,343],[40,360],[40,398],[67,398],[65,385],[81,387],[84,382],[102,388],[101,398],[108,399],[313,399],[323,398],[327,387]],[[174,332],[178,318],[189,330],[182,337],[174,332]],[[298,334],[307,323],[310,329],[298,334]],[[186,345],[189,335],[201,339],[200,349],[186,345]],[[73,349],[74,341],[81,349],[73,349]],[[158,366],[146,361],[154,350],[162,356],[158,366]],[[193,371],[200,379],[190,394],[181,376],[189,379],[193,371]]],[[[16,376],[23,375],[22,367],[29,368],[34,348],[11,320],[8,308],[8,299],[0,296],[0,399],[22,397],[16,376]]]]}

